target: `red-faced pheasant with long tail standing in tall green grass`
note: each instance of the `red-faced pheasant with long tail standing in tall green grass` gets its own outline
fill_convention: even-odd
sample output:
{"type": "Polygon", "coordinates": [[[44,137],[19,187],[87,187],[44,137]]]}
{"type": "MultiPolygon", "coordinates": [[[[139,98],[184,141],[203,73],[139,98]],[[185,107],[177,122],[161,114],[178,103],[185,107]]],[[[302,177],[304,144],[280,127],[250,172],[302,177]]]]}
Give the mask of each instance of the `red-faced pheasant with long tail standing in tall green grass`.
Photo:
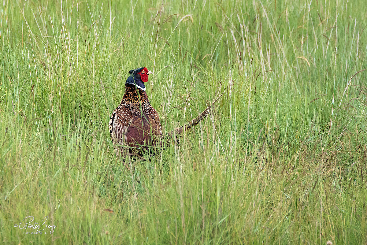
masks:
{"type": "Polygon", "coordinates": [[[130,70],[125,83],[125,94],[109,121],[109,131],[117,156],[141,157],[149,149],[163,149],[175,136],[189,130],[205,118],[215,103],[194,120],[164,136],[157,111],[150,105],[145,92],[148,75],[153,74],[146,67],[130,70]],[[166,137],[166,138],[165,138],[166,137]],[[168,138],[168,140],[167,140],[168,138]]]}

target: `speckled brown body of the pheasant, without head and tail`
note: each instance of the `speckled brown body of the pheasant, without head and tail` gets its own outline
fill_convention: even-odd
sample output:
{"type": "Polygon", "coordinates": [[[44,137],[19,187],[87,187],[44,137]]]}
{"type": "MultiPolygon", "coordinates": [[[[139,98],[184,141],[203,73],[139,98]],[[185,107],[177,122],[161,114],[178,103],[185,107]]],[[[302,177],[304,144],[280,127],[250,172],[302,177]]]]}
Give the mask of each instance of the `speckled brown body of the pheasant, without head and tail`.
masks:
{"type": "Polygon", "coordinates": [[[109,130],[116,154],[141,156],[149,147],[160,144],[162,128],[157,111],[146,92],[126,85],[120,105],[113,111],[109,130]]]}

